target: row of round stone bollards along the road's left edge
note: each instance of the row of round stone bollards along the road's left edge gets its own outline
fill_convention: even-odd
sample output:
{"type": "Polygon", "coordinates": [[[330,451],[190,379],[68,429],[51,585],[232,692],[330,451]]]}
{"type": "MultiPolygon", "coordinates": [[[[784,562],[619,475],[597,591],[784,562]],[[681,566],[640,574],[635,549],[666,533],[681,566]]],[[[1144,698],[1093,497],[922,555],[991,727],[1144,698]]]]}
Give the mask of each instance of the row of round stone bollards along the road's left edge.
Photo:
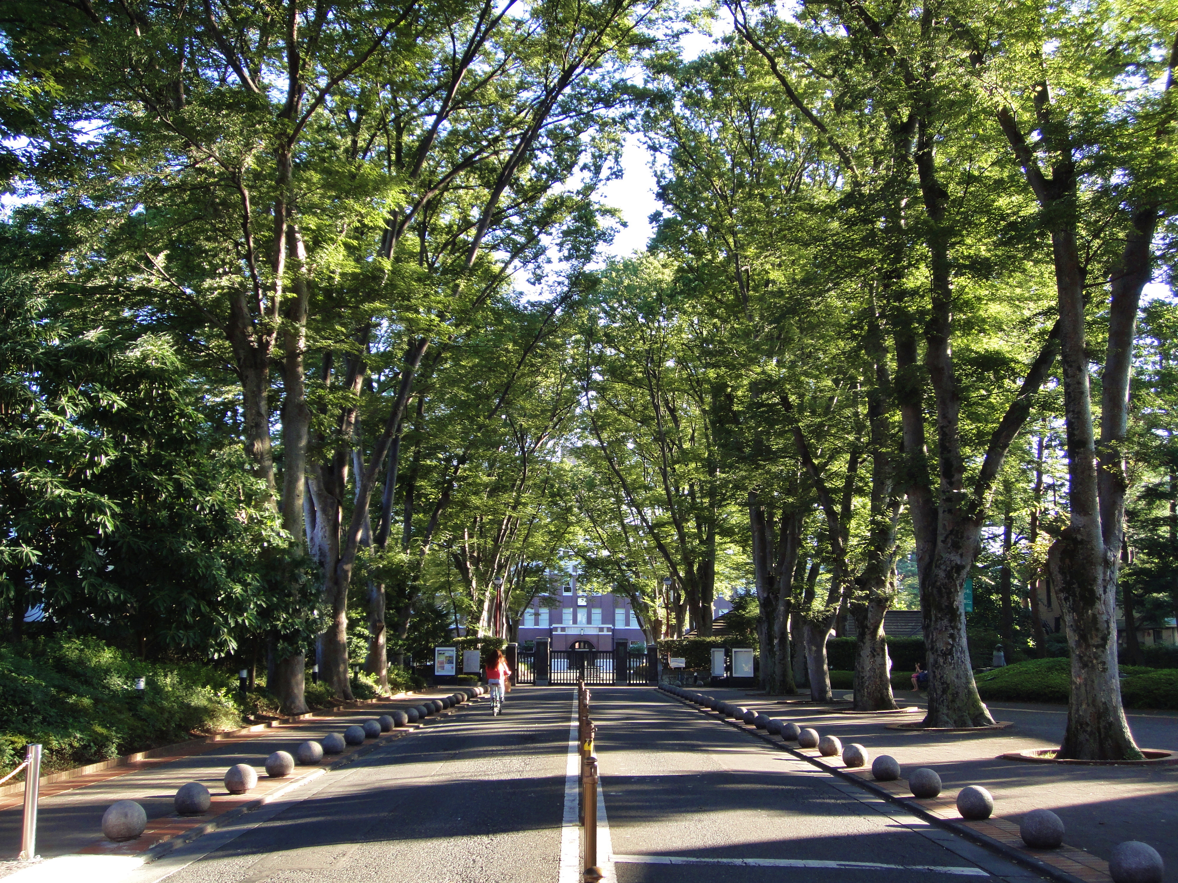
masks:
{"type": "MultiPolygon", "coordinates": [[[[263,764],[266,776],[285,778],[294,771],[296,763],[300,766],[315,766],[323,761],[324,755],[340,755],[349,745],[362,745],[366,739],[378,738],[398,726],[416,724],[485,692],[483,686],[463,686],[441,699],[426,699],[412,708],[393,709],[388,715],[380,715],[363,724],[352,724],[343,733],[329,732],[319,742],[304,742],[294,749],[293,756],[287,751],[274,751],[263,764]]],[[[233,764],[225,771],[223,781],[226,792],[247,794],[258,786],[258,771],[247,763],[233,764]]],[[[173,805],[180,816],[199,816],[212,806],[212,794],[201,782],[187,782],[177,790],[173,805]]],[[[137,839],[143,836],[146,828],[147,812],[137,801],[118,801],[102,814],[102,835],[117,843],[137,839]]]]}

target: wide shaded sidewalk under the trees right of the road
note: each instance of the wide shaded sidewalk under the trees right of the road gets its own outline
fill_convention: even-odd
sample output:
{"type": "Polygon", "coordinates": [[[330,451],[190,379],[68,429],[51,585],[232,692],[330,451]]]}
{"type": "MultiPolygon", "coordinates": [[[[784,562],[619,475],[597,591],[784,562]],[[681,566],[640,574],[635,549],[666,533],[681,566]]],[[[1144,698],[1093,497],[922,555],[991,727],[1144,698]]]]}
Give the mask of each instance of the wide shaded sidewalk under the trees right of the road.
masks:
{"type": "MultiPolygon", "coordinates": [[[[1178,765],[1083,766],[1001,758],[1010,751],[1058,746],[1066,721],[1064,706],[994,702],[990,703],[991,712],[995,719],[1012,722],[1008,729],[925,733],[886,726],[920,719],[925,702],[919,695],[906,691],[896,692],[896,704],[918,705],[920,711],[840,713],[840,709],[849,710],[849,703],[810,705],[796,702],[807,698],[801,695],[783,699],[736,689],[689,689],[769,717],[793,721],[820,735],[836,736],[843,745],[858,742],[873,758],[892,755],[905,774],[916,766],[937,770],[944,783],[941,797],[918,803],[928,804],[925,809],[938,817],[960,821],[953,804],[957,792],[966,785],[981,785],[994,796],[995,804],[994,830],[986,835],[1020,849],[1019,818],[1033,809],[1050,809],[1064,821],[1065,844],[1077,848],[1076,855],[1054,856],[1060,861],[1053,864],[1066,867],[1080,879],[1110,879],[1104,859],[1118,843],[1136,839],[1157,849],[1166,863],[1165,879],[1178,882],[1178,838],[1173,836],[1178,826],[1178,765]],[[1085,852],[1096,858],[1088,858],[1085,852]],[[1080,865],[1085,867],[1083,871],[1080,865]]],[[[836,697],[842,695],[843,691],[835,691],[836,697]]],[[[716,717],[715,712],[708,713],[716,717]]],[[[1178,713],[1129,712],[1129,719],[1141,748],[1178,750],[1178,713]]],[[[752,726],[743,729],[755,731],[752,726]]],[[[763,730],[757,732],[765,735],[763,730]]],[[[782,743],[777,736],[767,738],[782,743]]],[[[796,743],[782,744],[807,757],[819,756],[816,750],[799,749],[796,743]]],[[[821,762],[833,769],[845,769],[839,758],[821,758],[821,762]]],[[[847,772],[872,781],[869,770],[847,772]]],[[[911,797],[902,781],[891,790],[898,796],[911,797]]]]}

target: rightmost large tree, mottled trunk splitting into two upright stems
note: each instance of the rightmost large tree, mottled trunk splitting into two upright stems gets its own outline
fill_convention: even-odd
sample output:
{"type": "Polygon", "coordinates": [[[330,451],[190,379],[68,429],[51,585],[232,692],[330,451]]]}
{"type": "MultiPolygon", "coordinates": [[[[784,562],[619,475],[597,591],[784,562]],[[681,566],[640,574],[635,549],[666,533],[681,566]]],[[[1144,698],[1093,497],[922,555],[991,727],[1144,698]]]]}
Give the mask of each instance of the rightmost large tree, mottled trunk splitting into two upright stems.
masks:
{"type": "Polygon", "coordinates": [[[1117,668],[1117,578],[1124,555],[1125,442],[1141,291],[1159,220],[1173,210],[1172,16],[1111,4],[1072,18],[1032,4],[1001,38],[969,33],[992,125],[1038,204],[1059,305],[1068,525],[1051,546],[1072,660],[1059,757],[1133,759],[1117,668]],[[1107,35],[1107,38],[1106,38],[1107,35]],[[1129,93],[1131,72],[1160,88],[1129,93]],[[1093,277],[1106,280],[1100,301],[1093,277]],[[1106,298],[1106,299],[1105,299],[1106,298]],[[1101,303],[1103,301],[1103,303],[1101,303]],[[1091,306],[1107,305],[1099,438],[1091,392],[1091,306]]]}

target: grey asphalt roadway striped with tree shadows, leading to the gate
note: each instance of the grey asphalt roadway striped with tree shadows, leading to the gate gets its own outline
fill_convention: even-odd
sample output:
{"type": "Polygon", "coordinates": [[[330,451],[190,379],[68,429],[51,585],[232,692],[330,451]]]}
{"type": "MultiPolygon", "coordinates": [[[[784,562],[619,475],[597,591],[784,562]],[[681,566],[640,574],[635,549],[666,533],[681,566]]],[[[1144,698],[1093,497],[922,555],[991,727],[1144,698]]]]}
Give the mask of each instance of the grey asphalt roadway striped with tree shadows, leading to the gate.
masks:
{"type": "MultiPolygon", "coordinates": [[[[580,883],[561,870],[573,702],[468,706],[128,883],[580,883]]],[[[594,718],[610,883],[1039,879],[653,689],[597,688],[594,718]]]]}

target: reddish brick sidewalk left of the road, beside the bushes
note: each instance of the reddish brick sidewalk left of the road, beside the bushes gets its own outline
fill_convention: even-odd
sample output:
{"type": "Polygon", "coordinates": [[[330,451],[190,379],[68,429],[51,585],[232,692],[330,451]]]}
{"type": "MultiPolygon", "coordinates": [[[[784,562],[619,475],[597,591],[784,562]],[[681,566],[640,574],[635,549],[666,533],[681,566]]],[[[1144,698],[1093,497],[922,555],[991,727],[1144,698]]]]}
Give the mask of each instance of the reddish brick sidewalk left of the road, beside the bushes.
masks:
{"type": "MultiPolygon", "coordinates": [[[[166,848],[170,841],[191,839],[226,821],[224,817],[229,815],[239,815],[259,802],[272,799],[280,792],[304,784],[311,777],[323,775],[340,762],[368,753],[377,744],[408,736],[421,726],[430,726],[463,705],[430,716],[423,723],[396,728],[379,738],[366,739],[362,745],[349,746],[343,755],[327,755],[313,766],[296,765],[294,771],[283,778],[266,776],[265,759],[273,751],[293,755],[298,744],[307,739],[318,741],[329,732],[343,733],[352,724],[389,713],[392,709],[406,709],[431,698],[441,698],[450,692],[452,691],[432,690],[395,699],[378,699],[356,708],[323,711],[210,743],[200,753],[135,761],[125,766],[112,766],[42,786],[37,852],[44,858],[79,852],[140,855],[148,849],[158,851],[166,848]],[[223,778],[225,771],[238,763],[249,764],[258,771],[258,786],[245,795],[230,795],[225,791],[223,778]],[[212,794],[209,812],[187,817],[176,815],[173,796],[186,782],[201,782],[209,788],[212,794]],[[147,812],[147,831],[137,841],[113,844],[102,837],[102,814],[112,803],[123,799],[138,801],[143,805],[147,812]]],[[[198,746],[188,746],[187,743],[186,748],[198,750],[198,746]]],[[[21,799],[19,794],[0,797],[0,861],[15,858],[20,851],[21,799]]],[[[0,876],[4,876],[5,870],[4,864],[0,864],[0,876]]]]}

